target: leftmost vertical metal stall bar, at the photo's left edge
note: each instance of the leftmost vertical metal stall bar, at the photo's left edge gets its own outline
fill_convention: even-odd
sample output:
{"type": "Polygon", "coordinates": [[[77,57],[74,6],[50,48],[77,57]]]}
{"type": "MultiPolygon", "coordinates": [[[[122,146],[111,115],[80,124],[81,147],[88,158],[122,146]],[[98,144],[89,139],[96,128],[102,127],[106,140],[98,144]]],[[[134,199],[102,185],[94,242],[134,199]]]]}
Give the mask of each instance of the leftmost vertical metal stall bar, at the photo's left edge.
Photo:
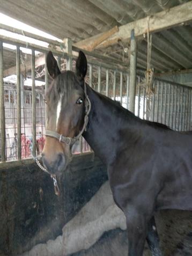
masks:
{"type": "Polygon", "coordinates": [[[0,116],[1,116],[1,161],[5,162],[5,106],[3,84],[3,42],[0,42],[0,116]]]}

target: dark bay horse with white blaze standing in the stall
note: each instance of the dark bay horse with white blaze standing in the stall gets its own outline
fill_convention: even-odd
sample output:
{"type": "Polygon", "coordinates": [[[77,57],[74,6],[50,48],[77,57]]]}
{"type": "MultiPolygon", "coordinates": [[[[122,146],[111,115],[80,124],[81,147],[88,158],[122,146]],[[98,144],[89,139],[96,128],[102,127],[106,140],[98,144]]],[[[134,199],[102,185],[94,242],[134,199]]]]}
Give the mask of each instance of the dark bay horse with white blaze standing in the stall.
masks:
{"type": "Polygon", "coordinates": [[[79,52],[76,73],[60,72],[51,52],[53,83],[46,94],[47,125],[43,164],[63,171],[72,144],[83,134],[107,166],[113,198],[125,214],[129,256],[141,256],[145,239],[162,255],[154,222],[160,209],[192,210],[192,134],[137,118],[85,84],[86,57],[79,52]]]}

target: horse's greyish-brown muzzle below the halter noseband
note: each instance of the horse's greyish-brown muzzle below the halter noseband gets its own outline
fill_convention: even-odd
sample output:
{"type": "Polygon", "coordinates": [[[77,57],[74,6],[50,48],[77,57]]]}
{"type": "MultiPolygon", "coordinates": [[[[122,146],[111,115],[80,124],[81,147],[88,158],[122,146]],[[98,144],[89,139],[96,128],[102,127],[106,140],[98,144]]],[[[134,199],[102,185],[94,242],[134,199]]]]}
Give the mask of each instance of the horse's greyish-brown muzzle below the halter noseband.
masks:
{"type": "Polygon", "coordinates": [[[54,159],[50,159],[45,153],[42,153],[42,162],[49,173],[57,173],[64,171],[66,159],[63,153],[57,153],[54,159]]]}

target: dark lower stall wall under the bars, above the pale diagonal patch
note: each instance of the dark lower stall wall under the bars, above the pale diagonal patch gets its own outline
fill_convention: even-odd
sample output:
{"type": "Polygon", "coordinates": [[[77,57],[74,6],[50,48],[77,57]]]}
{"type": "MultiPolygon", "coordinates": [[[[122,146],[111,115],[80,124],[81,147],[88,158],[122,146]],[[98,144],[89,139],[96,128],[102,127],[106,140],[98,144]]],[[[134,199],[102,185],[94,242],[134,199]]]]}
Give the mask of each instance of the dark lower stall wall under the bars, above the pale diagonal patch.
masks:
{"type": "Polygon", "coordinates": [[[17,255],[55,239],[106,180],[98,159],[76,157],[60,177],[57,197],[53,180],[33,161],[1,164],[0,255],[17,255]]]}

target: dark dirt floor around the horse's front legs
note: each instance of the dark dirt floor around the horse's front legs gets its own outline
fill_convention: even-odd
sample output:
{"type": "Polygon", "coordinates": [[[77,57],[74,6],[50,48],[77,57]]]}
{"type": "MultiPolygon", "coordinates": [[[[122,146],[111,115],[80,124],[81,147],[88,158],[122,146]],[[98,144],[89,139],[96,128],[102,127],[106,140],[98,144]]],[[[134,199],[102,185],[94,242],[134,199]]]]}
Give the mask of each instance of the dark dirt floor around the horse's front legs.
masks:
{"type": "MultiPolygon", "coordinates": [[[[192,211],[164,210],[156,215],[156,222],[164,256],[192,256],[192,211]]],[[[127,231],[116,229],[71,256],[127,256],[127,251],[127,231]]],[[[143,255],[151,255],[147,244],[143,255]]]]}

